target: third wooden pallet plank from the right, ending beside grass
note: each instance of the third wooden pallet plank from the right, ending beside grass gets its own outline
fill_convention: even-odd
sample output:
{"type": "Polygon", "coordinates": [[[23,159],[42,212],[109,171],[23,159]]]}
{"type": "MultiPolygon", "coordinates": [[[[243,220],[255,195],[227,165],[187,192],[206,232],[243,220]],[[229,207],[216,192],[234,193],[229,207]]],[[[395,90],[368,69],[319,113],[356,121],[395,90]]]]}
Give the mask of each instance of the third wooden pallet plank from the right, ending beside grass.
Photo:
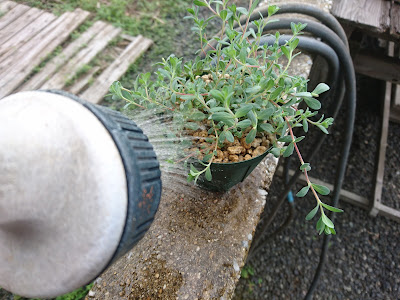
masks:
{"type": "Polygon", "coordinates": [[[89,12],[76,9],[72,13],[65,13],[41,33],[36,35],[23,47],[18,49],[18,55],[8,61],[5,68],[0,69],[0,99],[11,93],[20,85],[26,76],[58,45],[89,16],[89,12]]]}

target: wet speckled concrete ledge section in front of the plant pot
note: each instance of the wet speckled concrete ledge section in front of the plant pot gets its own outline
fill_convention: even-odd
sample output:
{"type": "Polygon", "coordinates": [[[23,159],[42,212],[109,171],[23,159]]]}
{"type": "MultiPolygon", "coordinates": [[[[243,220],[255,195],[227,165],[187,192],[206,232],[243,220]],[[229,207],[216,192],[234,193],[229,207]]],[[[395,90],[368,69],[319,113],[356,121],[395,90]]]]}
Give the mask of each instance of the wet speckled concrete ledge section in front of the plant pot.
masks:
{"type": "Polygon", "coordinates": [[[88,299],[230,299],[265,205],[277,159],[227,193],[164,181],[146,236],[96,280],[88,299]]]}

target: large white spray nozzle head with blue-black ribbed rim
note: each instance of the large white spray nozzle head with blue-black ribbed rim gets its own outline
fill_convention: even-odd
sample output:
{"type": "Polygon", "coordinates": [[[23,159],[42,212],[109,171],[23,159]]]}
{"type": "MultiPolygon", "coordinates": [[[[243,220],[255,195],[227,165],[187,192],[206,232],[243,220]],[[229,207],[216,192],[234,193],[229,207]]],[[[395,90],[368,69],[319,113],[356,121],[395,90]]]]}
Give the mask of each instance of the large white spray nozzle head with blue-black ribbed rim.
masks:
{"type": "Polygon", "coordinates": [[[53,298],[92,282],[150,227],[160,175],[118,112],[62,91],[0,100],[0,287],[53,298]]]}

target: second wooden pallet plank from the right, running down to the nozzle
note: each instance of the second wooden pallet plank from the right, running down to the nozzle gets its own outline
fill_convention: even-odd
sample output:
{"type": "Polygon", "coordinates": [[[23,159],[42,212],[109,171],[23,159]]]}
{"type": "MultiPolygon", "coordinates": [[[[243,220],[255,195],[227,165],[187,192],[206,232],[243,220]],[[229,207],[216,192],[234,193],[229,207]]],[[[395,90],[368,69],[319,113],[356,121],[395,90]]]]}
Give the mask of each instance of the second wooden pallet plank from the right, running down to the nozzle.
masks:
{"type": "Polygon", "coordinates": [[[88,45],[77,53],[52,78],[41,86],[41,89],[61,89],[68,80],[84,65],[88,64],[107,44],[121,32],[120,28],[107,25],[88,45]]]}

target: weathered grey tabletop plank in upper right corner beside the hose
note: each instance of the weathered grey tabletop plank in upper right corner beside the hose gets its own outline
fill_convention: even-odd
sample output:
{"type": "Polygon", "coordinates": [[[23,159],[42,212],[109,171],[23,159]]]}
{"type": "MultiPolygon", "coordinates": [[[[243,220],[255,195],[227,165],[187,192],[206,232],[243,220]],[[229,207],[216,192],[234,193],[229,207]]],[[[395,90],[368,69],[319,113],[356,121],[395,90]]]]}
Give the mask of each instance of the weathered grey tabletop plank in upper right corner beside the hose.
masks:
{"type": "Polygon", "coordinates": [[[337,18],[385,31],[390,27],[390,7],[384,0],[336,0],[331,12],[337,18]]]}

